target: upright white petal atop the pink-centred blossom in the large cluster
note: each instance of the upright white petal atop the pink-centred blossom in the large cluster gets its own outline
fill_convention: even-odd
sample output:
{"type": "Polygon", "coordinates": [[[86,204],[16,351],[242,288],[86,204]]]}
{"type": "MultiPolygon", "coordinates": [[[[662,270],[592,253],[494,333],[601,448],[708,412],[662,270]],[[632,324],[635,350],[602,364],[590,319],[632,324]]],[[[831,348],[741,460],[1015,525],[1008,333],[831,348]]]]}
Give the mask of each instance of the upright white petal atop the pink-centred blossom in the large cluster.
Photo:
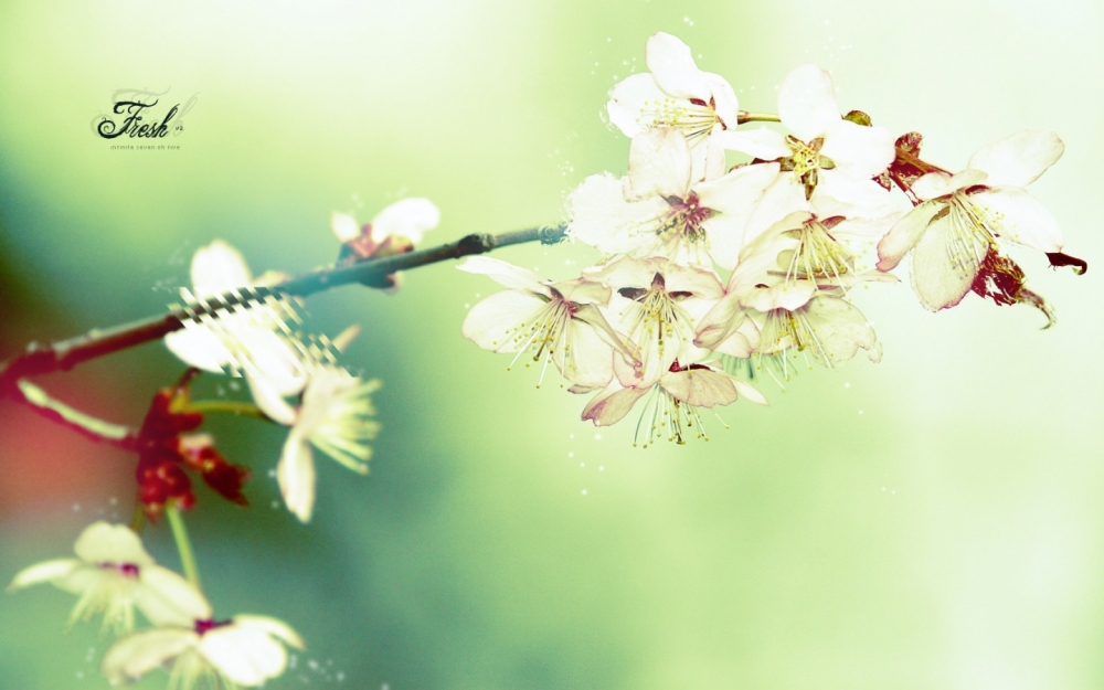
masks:
{"type": "Polygon", "coordinates": [[[684,199],[690,190],[693,160],[681,129],[657,127],[633,137],[628,150],[625,198],[638,201],[652,195],[684,199]]]}

